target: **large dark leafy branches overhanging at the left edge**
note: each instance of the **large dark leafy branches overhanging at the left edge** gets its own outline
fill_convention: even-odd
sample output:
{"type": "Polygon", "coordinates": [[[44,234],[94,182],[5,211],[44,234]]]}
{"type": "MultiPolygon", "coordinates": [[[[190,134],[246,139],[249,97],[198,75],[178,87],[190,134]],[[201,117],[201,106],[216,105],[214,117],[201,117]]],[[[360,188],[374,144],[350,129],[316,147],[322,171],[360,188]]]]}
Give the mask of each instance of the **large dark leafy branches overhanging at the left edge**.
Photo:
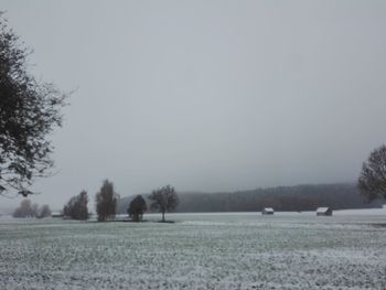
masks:
{"type": "Polygon", "coordinates": [[[0,194],[32,193],[53,165],[47,136],[62,125],[65,95],[28,72],[29,54],[0,13],[0,194]]]}

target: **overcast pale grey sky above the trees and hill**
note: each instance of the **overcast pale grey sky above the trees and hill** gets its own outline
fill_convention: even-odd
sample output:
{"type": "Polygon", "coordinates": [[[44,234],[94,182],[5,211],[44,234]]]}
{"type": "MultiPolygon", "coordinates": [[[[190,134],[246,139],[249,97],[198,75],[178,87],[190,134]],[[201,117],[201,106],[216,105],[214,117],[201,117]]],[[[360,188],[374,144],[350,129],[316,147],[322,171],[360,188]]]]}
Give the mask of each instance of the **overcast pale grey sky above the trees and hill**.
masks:
{"type": "MultiPolygon", "coordinates": [[[[71,97],[54,208],[121,196],[355,181],[386,140],[386,1],[15,1],[33,72],[71,97]]],[[[20,203],[1,200],[3,206],[20,203]]]]}

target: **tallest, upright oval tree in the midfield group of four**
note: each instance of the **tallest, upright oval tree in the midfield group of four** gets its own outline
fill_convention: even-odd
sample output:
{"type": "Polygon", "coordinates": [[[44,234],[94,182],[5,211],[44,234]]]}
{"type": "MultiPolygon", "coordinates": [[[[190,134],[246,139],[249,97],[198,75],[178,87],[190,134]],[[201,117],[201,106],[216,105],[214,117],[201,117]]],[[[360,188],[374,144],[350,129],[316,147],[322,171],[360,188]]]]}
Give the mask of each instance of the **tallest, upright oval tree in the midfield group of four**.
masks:
{"type": "Polygon", "coordinates": [[[112,182],[105,180],[100,191],[95,196],[96,211],[99,222],[115,218],[117,198],[118,195],[114,191],[112,182]]]}

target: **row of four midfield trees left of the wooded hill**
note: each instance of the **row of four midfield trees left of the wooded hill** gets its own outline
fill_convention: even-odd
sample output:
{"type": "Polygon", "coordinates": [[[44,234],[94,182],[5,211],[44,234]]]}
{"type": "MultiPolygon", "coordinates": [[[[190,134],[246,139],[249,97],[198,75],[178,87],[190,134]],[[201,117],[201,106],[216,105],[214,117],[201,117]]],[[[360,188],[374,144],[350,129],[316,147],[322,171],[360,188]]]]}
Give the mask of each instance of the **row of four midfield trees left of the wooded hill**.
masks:
{"type": "MultiPolygon", "coordinates": [[[[99,192],[95,196],[96,213],[99,222],[111,221],[116,217],[116,207],[119,195],[114,190],[112,182],[105,180],[99,192]]],[[[179,198],[174,187],[167,185],[154,190],[149,196],[150,207],[162,213],[162,222],[165,222],[164,214],[172,212],[179,204],[179,198]]],[[[87,219],[88,196],[86,191],[73,196],[63,208],[63,215],[66,218],[87,219]]],[[[130,203],[127,212],[132,221],[140,222],[144,212],[148,210],[147,203],[141,195],[137,195],[130,203]]]]}

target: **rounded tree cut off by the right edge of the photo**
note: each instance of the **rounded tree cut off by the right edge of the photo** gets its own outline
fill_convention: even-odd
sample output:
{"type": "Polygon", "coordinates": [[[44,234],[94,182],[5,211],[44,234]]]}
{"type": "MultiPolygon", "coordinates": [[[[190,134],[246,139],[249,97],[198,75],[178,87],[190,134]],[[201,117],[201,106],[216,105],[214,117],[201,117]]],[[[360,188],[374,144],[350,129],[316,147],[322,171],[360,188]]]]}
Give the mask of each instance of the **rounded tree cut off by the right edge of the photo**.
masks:
{"type": "Polygon", "coordinates": [[[368,201],[386,198],[386,146],[375,149],[363,163],[358,179],[360,192],[368,201]]]}

